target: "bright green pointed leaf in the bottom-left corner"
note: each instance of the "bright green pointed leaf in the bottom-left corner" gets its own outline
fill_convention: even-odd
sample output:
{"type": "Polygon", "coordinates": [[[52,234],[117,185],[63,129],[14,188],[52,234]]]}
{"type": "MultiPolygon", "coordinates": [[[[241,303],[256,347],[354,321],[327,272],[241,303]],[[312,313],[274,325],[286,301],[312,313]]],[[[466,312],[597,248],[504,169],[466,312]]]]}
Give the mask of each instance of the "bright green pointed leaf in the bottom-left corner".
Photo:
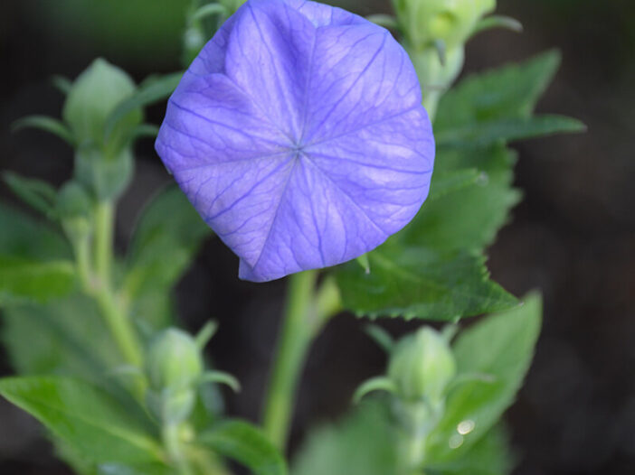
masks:
{"type": "Polygon", "coordinates": [[[161,461],[146,424],[96,387],[66,377],[8,377],[0,394],[32,414],[55,436],[97,462],[161,461]]]}

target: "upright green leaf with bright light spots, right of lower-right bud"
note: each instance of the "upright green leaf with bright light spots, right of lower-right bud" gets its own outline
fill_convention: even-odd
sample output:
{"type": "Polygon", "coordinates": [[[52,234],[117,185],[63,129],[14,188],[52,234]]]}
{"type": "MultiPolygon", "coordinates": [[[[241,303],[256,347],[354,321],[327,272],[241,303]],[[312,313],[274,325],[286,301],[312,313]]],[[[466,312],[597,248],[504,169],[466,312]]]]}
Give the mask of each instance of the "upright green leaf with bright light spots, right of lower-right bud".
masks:
{"type": "Polygon", "coordinates": [[[541,299],[533,294],[526,297],[524,305],[488,316],[460,333],[453,345],[459,372],[484,373],[495,380],[465,383],[452,391],[445,414],[428,439],[431,463],[458,457],[460,452],[450,446],[457,445],[461,422],[471,428],[461,435],[460,446],[467,448],[488,433],[514,402],[534,355],[541,316],[541,299]]]}

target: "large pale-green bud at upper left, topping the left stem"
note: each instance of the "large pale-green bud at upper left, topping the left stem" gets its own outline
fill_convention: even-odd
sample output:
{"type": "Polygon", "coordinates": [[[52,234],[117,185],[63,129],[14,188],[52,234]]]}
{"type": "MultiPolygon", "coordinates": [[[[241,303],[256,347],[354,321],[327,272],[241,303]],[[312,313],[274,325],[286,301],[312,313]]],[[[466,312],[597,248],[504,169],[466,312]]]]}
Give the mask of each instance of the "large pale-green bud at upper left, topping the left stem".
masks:
{"type": "Polygon", "coordinates": [[[96,144],[115,154],[124,146],[131,131],[141,122],[141,111],[122,117],[104,143],[105,126],[118,104],[135,91],[128,74],[108,61],[97,59],[72,84],[62,117],[71,127],[77,144],[96,144]],[[106,146],[108,145],[108,146],[106,146]]]}

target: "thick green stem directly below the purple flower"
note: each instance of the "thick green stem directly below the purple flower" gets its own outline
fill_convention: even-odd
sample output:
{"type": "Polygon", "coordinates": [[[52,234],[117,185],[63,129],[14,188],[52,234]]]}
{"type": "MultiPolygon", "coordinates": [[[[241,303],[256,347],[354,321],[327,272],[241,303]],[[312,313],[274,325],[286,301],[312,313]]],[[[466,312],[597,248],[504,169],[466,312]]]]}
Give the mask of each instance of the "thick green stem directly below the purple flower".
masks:
{"type": "Polygon", "coordinates": [[[284,448],[289,436],[299,373],[315,336],[310,313],[315,310],[316,279],[315,270],[289,277],[284,321],[262,414],[264,432],[280,448],[284,448]]]}

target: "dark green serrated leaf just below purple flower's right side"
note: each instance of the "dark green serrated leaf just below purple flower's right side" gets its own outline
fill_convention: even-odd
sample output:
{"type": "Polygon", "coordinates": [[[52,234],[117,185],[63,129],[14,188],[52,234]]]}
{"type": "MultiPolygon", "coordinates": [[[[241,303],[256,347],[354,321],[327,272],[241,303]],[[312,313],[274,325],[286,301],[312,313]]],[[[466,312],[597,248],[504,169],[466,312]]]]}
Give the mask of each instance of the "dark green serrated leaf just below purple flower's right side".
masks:
{"type": "Polygon", "coordinates": [[[368,256],[370,274],[354,262],[336,271],[342,304],[358,315],[452,321],[517,304],[514,296],[488,280],[485,259],[479,256],[390,243],[368,256]]]}

